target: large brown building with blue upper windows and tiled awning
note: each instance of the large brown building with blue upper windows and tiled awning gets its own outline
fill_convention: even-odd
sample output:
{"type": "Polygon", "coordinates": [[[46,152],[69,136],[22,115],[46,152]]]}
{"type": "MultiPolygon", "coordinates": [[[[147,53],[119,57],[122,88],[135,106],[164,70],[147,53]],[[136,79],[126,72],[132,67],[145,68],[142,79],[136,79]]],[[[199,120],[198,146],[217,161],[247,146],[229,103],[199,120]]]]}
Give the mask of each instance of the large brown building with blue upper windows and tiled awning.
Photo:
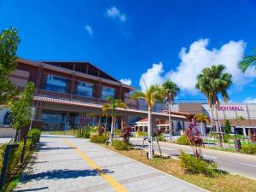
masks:
{"type": "MultiPolygon", "coordinates": [[[[102,104],[108,96],[126,102],[128,108],[117,110],[116,126],[134,124],[148,113],[131,101],[130,92],[136,90],[122,84],[90,62],[84,61],[28,61],[18,59],[15,72],[9,77],[20,89],[27,81],[35,84],[33,126],[43,131],[77,128],[81,124],[106,125],[109,115],[102,116],[102,104]]],[[[166,113],[153,113],[153,121],[167,119],[166,113]]],[[[187,119],[175,114],[176,119],[187,119]]],[[[153,122],[153,123],[154,123],[153,122]]],[[[1,122],[0,122],[1,124],[1,122]]],[[[156,126],[155,126],[156,128],[156,126]]]]}

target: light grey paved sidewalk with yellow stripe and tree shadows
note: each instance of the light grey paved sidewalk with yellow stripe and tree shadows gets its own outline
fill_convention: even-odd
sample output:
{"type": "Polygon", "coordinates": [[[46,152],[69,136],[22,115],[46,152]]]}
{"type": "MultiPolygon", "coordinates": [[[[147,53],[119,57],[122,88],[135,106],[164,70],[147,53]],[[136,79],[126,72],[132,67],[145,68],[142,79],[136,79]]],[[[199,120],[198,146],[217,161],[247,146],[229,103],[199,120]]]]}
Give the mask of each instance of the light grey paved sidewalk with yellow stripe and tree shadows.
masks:
{"type": "Polygon", "coordinates": [[[84,139],[43,136],[15,191],[204,191],[84,139]]]}

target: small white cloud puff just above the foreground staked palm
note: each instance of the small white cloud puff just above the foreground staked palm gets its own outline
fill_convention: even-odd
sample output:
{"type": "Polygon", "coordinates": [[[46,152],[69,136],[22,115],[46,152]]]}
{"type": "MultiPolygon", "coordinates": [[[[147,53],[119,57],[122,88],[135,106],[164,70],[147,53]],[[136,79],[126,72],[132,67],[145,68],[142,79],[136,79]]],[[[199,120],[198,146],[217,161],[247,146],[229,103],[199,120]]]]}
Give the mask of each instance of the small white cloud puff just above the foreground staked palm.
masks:
{"type": "Polygon", "coordinates": [[[165,78],[162,76],[164,73],[163,63],[153,64],[152,68],[148,68],[146,73],[143,73],[140,79],[140,86],[142,90],[147,90],[151,84],[162,84],[165,78]]]}

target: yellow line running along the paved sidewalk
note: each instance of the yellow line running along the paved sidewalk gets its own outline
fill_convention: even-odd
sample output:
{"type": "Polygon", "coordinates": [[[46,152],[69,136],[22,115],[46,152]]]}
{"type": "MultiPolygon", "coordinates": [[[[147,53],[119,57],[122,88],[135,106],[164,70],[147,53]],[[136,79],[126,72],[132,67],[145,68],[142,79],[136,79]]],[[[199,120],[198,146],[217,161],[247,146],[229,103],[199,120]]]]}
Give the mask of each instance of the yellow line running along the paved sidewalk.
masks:
{"type": "Polygon", "coordinates": [[[73,143],[65,139],[65,142],[73,148],[83,159],[85,162],[87,162],[93,169],[96,169],[97,172],[117,191],[120,192],[128,192],[127,189],[123,185],[121,185],[117,180],[115,180],[113,177],[108,175],[108,173],[102,171],[102,168],[98,165],[93,160],[90,160],[90,158],[84,154],[83,151],[81,151],[79,148],[77,148],[73,143]]]}

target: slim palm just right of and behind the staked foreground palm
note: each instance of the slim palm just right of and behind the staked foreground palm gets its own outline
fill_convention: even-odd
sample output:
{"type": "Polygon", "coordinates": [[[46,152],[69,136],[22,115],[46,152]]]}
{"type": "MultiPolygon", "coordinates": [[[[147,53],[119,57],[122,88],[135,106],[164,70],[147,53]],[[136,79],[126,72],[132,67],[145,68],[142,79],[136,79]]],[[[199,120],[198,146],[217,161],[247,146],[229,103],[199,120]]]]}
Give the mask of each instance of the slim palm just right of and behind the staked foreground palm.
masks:
{"type": "Polygon", "coordinates": [[[177,84],[173,83],[169,79],[162,85],[164,88],[166,96],[166,105],[168,106],[169,112],[169,131],[170,131],[170,141],[172,142],[172,116],[171,116],[171,106],[174,103],[174,98],[177,96],[179,88],[177,84]]]}

